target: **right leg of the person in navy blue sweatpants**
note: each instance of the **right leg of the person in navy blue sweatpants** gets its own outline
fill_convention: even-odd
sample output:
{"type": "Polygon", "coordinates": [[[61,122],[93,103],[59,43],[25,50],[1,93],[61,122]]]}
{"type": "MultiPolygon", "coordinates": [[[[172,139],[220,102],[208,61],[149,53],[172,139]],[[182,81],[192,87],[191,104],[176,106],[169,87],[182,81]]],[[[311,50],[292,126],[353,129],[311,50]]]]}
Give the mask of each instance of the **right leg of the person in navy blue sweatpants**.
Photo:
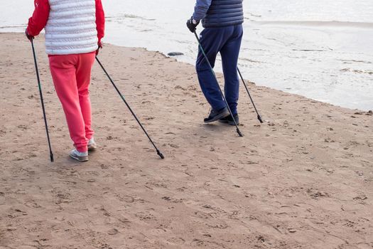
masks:
{"type": "Polygon", "coordinates": [[[227,99],[233,115],[237,114],[237,103],[239,97],[237,61],[239,57],[239,49],[241,48],[242,35],[242,25],[234,26],[232,36],[220,51],[225,78],[225,98],[227,99]]]}

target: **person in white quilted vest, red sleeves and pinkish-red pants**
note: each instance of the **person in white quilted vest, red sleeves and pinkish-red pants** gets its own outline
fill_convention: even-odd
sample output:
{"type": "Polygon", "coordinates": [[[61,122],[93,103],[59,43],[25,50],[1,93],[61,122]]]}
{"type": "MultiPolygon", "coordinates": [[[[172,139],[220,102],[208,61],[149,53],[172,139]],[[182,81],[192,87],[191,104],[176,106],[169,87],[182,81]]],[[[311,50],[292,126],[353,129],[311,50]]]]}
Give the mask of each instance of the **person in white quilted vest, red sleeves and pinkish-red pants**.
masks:
{"type": "Polygon", "coordinates": [[[94,56],[102,48],[104,10],[101,0],[35,0],[28,20],[29,40],[45,28],[50,73],[65,112],[75,149],[70,157],[88,161],[94,142],[89,85],[94,56]]]}

